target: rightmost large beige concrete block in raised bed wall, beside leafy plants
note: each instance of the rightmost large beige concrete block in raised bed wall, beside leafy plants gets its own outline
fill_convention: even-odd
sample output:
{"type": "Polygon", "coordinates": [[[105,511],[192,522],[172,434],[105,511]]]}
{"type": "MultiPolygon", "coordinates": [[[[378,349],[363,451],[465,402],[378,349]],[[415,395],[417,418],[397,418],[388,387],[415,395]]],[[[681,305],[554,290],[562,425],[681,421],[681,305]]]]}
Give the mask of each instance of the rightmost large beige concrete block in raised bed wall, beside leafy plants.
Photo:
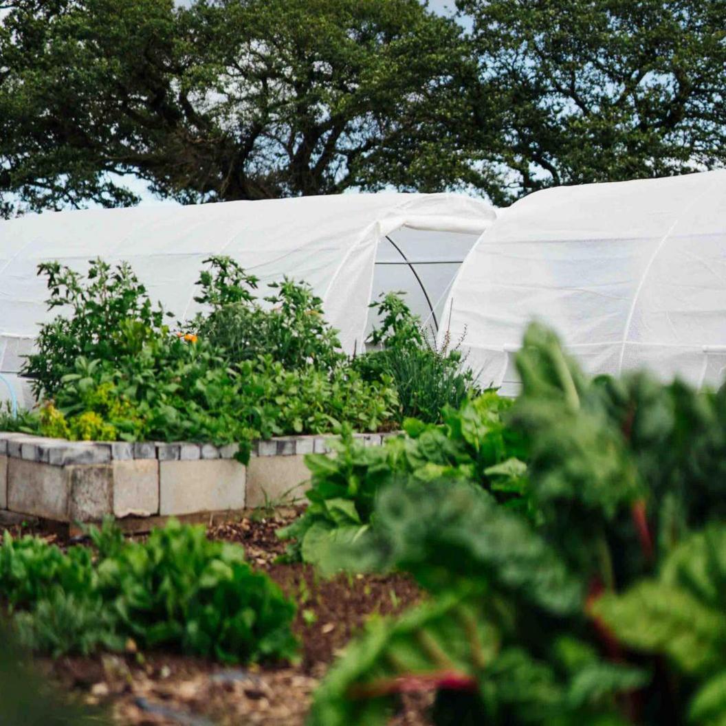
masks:
{"type": "Polygon", "coordinates": [[[260,456],[247,466],[247,506],[262,507],[302,499],[310,479],[303,454],[260,456]]]}

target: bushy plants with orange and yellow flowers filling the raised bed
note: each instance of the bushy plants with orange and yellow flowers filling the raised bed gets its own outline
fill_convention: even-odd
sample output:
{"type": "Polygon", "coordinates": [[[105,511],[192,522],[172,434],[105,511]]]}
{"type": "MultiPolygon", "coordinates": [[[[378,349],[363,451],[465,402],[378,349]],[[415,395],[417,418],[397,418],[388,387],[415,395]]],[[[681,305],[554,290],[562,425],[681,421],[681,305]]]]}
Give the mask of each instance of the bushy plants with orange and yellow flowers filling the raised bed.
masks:
{"type": "Polygon", "coordinates": [[[365,380],[344,364],[335,331],[309,288],[285,280],[266,310],[256,280],[213,257],[197,298],[211,307],[197,333],[172,334],[126,265],[92,261],[89,282],[55,264],[51,307],[25,373],[48,398],[12,428],[73,440],[209,441],[238,444],[288,433],[393,427],[399,401],[391,380],[365,380]],[[131,317],[129,317],[131,316],[131,317]],[[234,322],[236,321],[236,322],[234,322]]]}

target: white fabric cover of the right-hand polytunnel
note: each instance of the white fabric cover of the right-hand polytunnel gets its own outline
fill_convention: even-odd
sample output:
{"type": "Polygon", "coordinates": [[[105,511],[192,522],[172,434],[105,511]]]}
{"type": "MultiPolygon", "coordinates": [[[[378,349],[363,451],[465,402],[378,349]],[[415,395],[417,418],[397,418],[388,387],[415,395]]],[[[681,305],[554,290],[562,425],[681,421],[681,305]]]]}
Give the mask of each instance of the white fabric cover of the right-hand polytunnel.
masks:
{"type": "Polygon", "coordinates": [[[452,287],[481,384],[516,390],[513,351],[534,318],[587,370],[647,367],[722,383],[726,171],[536,192],[499,211],[452,287]]]}

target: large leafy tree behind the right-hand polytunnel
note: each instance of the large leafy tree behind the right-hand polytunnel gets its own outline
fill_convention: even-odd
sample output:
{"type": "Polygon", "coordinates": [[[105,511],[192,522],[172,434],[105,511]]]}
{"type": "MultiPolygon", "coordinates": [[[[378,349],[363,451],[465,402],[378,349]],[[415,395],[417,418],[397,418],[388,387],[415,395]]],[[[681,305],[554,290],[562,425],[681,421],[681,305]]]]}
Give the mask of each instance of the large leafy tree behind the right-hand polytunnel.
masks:
{"type": "Polygon", "coordinates": [[[480,69],[460,141],[481,158],[490,176],[478,186],[497,202],[726,162],[725,0],[457,6],[473,24],[480,69]],[[482,97],[499,109],[494,136],[476,116],[482,97]]]}

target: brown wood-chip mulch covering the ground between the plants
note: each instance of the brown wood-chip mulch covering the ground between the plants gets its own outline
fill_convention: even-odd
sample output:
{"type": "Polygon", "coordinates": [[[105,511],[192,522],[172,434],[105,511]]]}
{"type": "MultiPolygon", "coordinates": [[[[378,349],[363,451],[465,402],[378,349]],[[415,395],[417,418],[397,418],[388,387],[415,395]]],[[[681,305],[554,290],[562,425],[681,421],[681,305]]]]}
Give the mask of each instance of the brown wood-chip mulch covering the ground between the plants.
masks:
{"type": "MultiPolygon", "coordinates": [[[[415,583],[401,575],[325,580],[309,566],[275,563],[286,546],[275,531],[300,511],[260,513],[208,528],[212,539],[242,544],[248,561],[295,601],[299,664],[240,667],[201,658],[128,653],[41,659],[39,666],[63,690],[102,707],[120,725],[303,726],[319,680],[351,636],[371,616],[399,613],[421,595],[415,583]]],[[[46,537],[57,541],[53,534],[46,537]]],[[[429,696],[407,697],[391,724],[426,726],[429,701],[429,696]]]]}

